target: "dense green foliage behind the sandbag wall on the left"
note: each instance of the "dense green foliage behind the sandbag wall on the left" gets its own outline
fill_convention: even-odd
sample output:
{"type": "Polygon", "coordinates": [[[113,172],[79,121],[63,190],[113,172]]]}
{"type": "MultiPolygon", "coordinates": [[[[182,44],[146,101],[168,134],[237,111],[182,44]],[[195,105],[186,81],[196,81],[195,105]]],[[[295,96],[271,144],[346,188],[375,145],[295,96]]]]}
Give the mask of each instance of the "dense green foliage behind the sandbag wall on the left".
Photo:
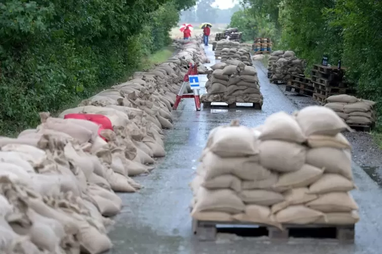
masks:
{"type": "Polygon", "coordinates": [[[168,45],[186,0],[0,0],[0,133],[120,81],[168,45]]]}

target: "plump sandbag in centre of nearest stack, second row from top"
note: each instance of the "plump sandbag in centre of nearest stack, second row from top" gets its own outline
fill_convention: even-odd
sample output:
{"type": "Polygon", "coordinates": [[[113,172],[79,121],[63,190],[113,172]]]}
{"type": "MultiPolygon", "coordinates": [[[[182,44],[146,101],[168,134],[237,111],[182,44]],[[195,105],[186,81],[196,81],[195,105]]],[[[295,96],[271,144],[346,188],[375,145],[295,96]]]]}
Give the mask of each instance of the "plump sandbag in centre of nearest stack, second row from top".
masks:
{"type": "Polygon", "coordinates": [[[291,142],[267,140],[260,143],[260,164],[281,173],[298,171],[305,163],[306,148],[291,142]]]}

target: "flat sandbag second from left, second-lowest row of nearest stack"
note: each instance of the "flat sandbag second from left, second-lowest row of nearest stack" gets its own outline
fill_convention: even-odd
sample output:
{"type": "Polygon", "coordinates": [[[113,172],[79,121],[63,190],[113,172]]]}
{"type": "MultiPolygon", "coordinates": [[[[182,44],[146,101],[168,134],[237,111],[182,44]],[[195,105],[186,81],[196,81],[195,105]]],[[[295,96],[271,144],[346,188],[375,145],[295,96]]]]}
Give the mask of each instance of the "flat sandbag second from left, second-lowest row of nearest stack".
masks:
{"type": "Polygon", "coordinates": [[[247,204],[273,205],[284,201],[280,193],[268,190],[243,190],[238,193],[240,199],[247,204]]]}

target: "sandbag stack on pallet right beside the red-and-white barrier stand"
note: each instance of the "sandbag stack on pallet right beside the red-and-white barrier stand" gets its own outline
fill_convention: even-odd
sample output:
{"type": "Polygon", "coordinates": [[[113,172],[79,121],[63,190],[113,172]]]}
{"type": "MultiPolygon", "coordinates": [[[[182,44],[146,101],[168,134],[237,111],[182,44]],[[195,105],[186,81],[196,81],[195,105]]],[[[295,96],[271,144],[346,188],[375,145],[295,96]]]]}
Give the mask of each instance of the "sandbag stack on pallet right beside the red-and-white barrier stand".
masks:
{"type": "Polygon", "coordinates": [[[212,74],[205,83],[207,94],[201,96],[201,102],[257,103],[263,105],[260,83],[256,69],[246,66],[239,60],[216,63],[212,74]]]}

